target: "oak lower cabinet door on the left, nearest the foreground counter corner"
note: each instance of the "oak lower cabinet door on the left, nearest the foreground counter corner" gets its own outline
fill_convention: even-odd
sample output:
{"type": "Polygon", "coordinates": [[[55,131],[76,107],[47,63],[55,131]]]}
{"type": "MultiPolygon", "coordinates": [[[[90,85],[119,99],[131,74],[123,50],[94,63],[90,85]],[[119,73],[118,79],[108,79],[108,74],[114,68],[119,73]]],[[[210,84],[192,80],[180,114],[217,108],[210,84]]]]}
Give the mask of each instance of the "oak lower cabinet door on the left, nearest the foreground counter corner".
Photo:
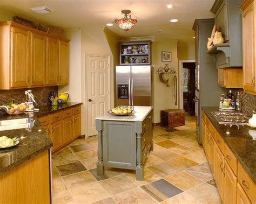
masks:
{"type": "Polygon", "coordinates": [[[63,144],[62,121],[57,121],[51,124],[50,137],[53,142],[52,151],[55,151],[63,144]]]}

